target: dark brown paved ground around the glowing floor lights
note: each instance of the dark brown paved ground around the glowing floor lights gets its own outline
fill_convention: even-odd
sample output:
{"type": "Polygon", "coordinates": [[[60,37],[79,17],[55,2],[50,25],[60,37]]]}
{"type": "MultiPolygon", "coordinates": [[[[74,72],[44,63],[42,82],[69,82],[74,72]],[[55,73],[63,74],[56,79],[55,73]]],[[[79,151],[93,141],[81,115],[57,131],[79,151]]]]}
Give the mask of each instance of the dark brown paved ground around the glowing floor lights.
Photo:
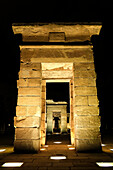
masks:
{"type": "Polygon", "coordinates": [[[113,137],[111,134],[103,141],[106,143],[102,147],[102,153],[76,153],[73,146],[68,146],[69,138],[64,135],[48,136],[47,146],[42,147],[37,154],[16,154],[13,152],[13,146],[11,142],[7,144],[5,138],[5,145],[3,145],[3,139],[1,140],[0,149],[6,149],[6,151],[0,153],[0,169],[28,169],[28,170],[96,170],[96,169],[113,169],[100,168],[96,165],[96,162],[111,162],[113,161],[113,137]],[[54,138],[53,138],[54,137],[54,138]],[[108,140],[108,137],[111,138],[108,140]],[[60,144],[53,144],[54,141],[62,141],[60,144]],[[69,150],[69,148],[73,150],[69,150]],[[65,160],[51,160],[50,156],[66,156],[65,160]],[[23,162],[20,168],[3,168],[1,167],[5,162],[23,162]]]}

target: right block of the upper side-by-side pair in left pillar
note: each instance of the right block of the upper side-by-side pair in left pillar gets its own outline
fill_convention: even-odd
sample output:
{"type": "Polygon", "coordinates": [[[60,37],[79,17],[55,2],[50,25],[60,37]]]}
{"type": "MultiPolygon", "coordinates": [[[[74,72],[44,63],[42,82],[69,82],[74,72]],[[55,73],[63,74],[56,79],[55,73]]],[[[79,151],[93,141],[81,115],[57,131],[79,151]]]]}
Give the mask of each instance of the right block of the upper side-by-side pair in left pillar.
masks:
{"type": "Polygon", "coordinates": [[[28,79],[28,86],[30,87],[40,87],[41,85],[41,80],[40,79],[36,79],[36,78],[33,78],[33,79],[28,79]]]}

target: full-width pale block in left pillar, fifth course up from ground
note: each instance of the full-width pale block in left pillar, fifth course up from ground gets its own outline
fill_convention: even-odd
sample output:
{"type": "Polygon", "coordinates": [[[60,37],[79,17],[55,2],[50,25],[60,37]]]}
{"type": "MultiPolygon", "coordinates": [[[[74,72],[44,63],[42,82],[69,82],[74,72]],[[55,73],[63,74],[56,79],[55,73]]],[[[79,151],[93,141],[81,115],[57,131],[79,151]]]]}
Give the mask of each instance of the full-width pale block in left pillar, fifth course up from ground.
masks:
{"type": "Polygon", "coordinates": [[[18,105],[26,105],[26,106],[40,106],[41,105],[41,97],[18,97],[18,105]]]}

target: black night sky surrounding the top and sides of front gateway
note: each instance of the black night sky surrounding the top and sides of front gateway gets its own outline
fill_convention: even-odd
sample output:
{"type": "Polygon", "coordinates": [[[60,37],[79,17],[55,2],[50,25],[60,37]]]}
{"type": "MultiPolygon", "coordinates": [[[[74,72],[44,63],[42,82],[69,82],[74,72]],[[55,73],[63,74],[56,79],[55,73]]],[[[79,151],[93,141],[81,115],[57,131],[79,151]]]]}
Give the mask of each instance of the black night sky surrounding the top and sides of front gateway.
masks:
{"type": "Polygon", "coordinates": [[[0,1],[0,114],[4,120],[13,118],[17,99],[19,44],[13,35],[12,23],[101,21],[100,35],[92,38],[98,97],[102,126],[113,127],[112,11],[109,0],[0,1]]]}

